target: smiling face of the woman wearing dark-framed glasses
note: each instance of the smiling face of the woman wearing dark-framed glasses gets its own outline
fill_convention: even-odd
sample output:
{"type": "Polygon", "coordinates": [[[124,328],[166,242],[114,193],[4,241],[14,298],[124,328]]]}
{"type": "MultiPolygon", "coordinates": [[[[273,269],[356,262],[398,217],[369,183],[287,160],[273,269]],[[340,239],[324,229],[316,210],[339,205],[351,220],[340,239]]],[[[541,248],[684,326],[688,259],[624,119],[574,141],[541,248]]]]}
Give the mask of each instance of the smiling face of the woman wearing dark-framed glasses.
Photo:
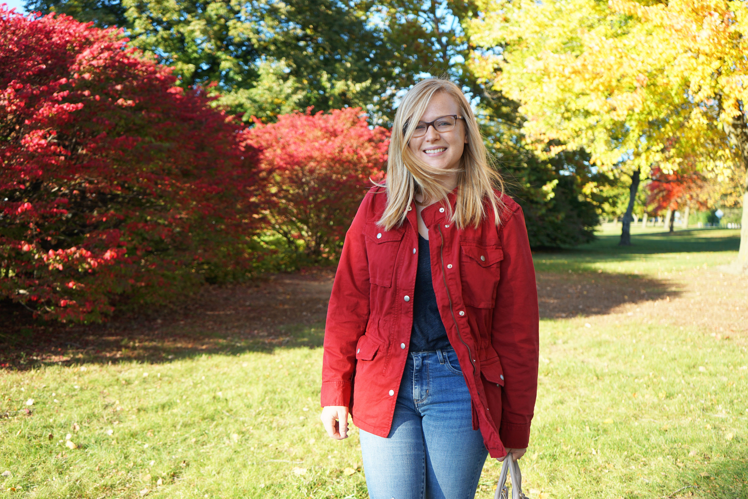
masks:
{"type": "MultiPolygon", "coordinates": [[[[432,97],[420,121],[428,122],[448,114],[462,116],[463,112],[450,94],[439,92],[432,97]]],[[[459,167],[462,151],[467,143],[465,120],[457,120],[455,127],[449,132],[438,132],[433,126],[429,126],[426,135],[411,138],[408,149],[432,168],[450,170],[459,167]]]]}

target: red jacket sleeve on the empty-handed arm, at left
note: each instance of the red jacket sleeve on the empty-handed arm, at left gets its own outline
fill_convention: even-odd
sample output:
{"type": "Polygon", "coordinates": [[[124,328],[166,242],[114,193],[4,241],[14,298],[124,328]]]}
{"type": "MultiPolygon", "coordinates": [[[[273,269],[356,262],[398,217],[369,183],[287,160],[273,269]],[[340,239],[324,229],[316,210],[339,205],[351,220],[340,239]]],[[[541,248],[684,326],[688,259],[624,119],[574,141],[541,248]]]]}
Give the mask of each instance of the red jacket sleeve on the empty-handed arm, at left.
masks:
{"type": "Polygon", "coordinates": [[[358,208],[335,272],[322,355],[322,407],[350,407],[356,343],[369,322],[369,260],[364,227],[371,197],[372,194],[367,195],[358,208]]]}

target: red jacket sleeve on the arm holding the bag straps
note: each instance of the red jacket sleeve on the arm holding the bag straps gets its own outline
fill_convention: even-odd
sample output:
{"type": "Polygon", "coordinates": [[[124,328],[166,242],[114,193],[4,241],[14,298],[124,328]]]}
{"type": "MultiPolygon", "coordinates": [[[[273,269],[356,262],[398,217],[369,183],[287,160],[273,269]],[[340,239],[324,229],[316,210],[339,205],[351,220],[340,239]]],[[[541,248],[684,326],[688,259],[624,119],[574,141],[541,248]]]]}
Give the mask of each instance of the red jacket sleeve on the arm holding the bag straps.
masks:
{"type": "Polygon", "coordinates": [[[504,373],[499,436],[507,448],[530,441],[530,421],[538,391],[539,313],[533,254],[522,209],[516,203],[500,224],[504,252],[496,293],[491,343],[504,373]]]}

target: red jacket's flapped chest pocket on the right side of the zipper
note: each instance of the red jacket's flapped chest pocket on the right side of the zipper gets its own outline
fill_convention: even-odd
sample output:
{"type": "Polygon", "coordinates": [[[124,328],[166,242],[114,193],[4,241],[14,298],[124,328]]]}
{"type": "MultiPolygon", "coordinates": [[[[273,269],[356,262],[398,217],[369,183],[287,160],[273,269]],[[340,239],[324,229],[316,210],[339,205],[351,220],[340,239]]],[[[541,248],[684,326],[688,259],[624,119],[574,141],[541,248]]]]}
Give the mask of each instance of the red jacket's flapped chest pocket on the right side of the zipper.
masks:
{"type": "Polygon", "coordinates": [[[460,241],[462,300],[466,305],[478,308],[496,305],[496,287],[503,258],[504,252],[499,245],[460,241]]]}

